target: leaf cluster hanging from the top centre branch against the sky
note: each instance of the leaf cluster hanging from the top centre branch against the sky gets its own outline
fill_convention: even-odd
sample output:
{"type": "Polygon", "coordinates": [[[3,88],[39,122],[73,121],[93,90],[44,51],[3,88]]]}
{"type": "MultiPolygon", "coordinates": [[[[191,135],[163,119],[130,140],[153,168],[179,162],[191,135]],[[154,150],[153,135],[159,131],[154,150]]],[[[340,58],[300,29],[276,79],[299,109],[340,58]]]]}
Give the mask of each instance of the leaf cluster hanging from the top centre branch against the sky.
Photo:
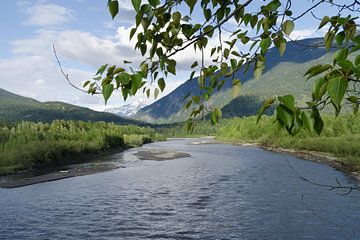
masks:
{"type": "MultiPolygon", "coordinates": [[[[143,88],[143,92],[150,95],[150,89],[142,79],[151,78],[151,82],[157,81],[159,89],[165,87],[165,80],[169,73],[176,74],[176,60],[173,58],[176,53],[187,47],[193,46],[195,51],[204,54],[209,39],[214,37],[215,32],[219,36],[219,44],[211,49],[211,57],[214,64],[205,66],[201,63],[199,70],[198,83],[204,93],[200,96],[193,96],[185,104],[185,109],[189,109],[193,104],[198,107],[193,108],[190,114],[189,128],[192,127],[192,119],[203,116],[204,113],[212,111],[212,121],[215,123],[221,117],[221,110],[217,108],[209,109],[204,102],[209,100],[214,90],[220,90],[227,79],[232,79],[233,85],[240,85],[239,79],[233,79],[234,73],[240,68],[249,69],[251,63],[255,65],[255,76],[259,77],[265,66],[265,54],[272,45],[279,49],[283,54],[286,49],[285,35],[290,35],[294,29],[294,22],[286,20],[285,16],[291,16],[292,12],[285,9],[280,14],[281,2],[279,0],[268,1],[261,7],[259,12],[246,11],[253,0],[245,3],[240,1],[219,1],[219,0],[171,0],[161,2],[158,0],[148,1],[141,4],[141,0],[133,0],[132,4],[136,11],[136,27],[131,29],[130,39],[137,33],[135,48],[140,50],[146,60],[139,68],[140,71],[125,73],[124,69],[116,66],[102,66],[98,74],[107,70],[106,76],[96,76],[94,82],[90,84],[89,93],[95,93],[102,89],[105,101],[110,97],[114,89],[121,89],[124,99],[128,95],[134,95],[136,91],[143,88]],[[177,11],[179,6],[185,5],[189,14],[183,15],[177,11]],[[195,8],[202,9],[204,22],[193,23],[191,15],[195,8]],[[279,26],[278,18],[281,16],[279,26]],[[240,26],[254,29],[258,37],[252,37],[249,31],[241,28],[234,31],[228,41],[221,40],[223,25],[230,19],[235,19],[240,26]],[[249,45],[249,53],[243,54],[235,50],[237,44],[249,45]],[[253,50],[253,53],[250,53],[253,50]],[[150,76],[148,76],[148,73],[150,76]],[[101,87],[96,81],[101,80],[101,87]]],[[[119,12],[117,0],[109,0],[108,7],[111,16],[114,18],[119,12]]],[[[204,57],[204,56],[203,56],[204,57]]],[[[197,68],[200,64],[195,61],[191,68],[197,68]]],[[[197,71],[193,71],[190,79],[193,79],[197,71]]],[[[154,95],[157,96],[159,89],[155,89],[154,95]]]]}

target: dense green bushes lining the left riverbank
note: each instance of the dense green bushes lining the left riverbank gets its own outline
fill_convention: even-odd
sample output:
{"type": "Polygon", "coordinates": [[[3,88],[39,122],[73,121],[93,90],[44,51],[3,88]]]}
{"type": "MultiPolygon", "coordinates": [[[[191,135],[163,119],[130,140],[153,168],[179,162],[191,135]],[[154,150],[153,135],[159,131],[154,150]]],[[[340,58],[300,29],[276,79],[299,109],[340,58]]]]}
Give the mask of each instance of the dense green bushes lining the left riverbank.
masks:
{"type": "Polygon", "coordinates": [[[165,140],[153,129],[57,120],[0,127],[0,175],[82,163],[111,150],[165,140]]]}

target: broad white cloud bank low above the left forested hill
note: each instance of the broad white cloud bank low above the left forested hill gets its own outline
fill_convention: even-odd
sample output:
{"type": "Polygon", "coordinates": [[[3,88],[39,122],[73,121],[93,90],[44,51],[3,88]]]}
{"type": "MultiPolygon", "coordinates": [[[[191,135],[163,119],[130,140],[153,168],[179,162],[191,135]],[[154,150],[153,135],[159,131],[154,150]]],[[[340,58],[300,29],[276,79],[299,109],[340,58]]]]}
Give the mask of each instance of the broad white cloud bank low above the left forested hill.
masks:
{"type": "MultiPolygon", "coordinates": [[[[0,87],[41,101],[65,101],[93,109],[104,109],[101,95],[90,96],[75,90],[66,82],[55,61],[52,44],[55,44],[71,81],[81,87],[82,82],[90,79],[101,64],[122,64],[125,59],[140,62],[142,57],[134,52],[128,40],[129,31],[120,28],[117,37],[106,39],[81,31],[38,30],[33,37],[11,44],[12,58],[0,59],[0,72],[3,72],[0,87]],[[67,65],[68,62],[71,64],[67,65]],[[72,63],[82,63],[93,70],[69,68],[72,63]]],[[[166,90],[160,97],[174,90],[181,82],[168,81],[166,90]]],[[[139,91],[139,95],[128,99],[127,103],[141,98],[145,98],[145,94],[139,91]]],[[[153,101],[154,98],[150,98],[150,102],[153,101]]],[[[108,104],[121,106],[124,101],[117,92],[108,104]]]]}

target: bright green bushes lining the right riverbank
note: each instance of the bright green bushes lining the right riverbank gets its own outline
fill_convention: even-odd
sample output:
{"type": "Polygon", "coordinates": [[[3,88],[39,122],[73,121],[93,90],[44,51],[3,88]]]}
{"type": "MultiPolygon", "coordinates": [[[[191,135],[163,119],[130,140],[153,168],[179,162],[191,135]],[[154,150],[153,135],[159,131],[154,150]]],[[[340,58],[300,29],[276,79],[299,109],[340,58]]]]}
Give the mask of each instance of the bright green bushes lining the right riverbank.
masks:
{"type": "Polygon", "coordinates": [[[216,138],[235,144],[254,143],[312,160],[327,157],[328,163],[340,170],[360,172],[360,117],[329,115],[323,120],[320,136],[303,130],[292,137],[273,123],[272,117],[264,117],[258,124],[255,117],[226,119],[219,125],[216,138]]]}

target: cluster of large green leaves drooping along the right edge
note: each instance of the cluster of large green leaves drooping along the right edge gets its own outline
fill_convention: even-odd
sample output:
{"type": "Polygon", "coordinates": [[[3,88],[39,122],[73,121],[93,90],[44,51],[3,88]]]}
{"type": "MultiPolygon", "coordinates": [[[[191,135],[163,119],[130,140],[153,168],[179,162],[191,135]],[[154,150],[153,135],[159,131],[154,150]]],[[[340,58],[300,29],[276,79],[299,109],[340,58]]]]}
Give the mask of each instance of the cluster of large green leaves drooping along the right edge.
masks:
{"type": "Polygon", "coordinates": [[[290,134],[297,134],[302,127],[320,134],[324,124],[319,110],[326,105],[331,104],[337,116],[345,99],[352,105],[354,114],[357,114],[360,103],[360,35],[356,33],[355,20],[351,16],[325,16],[322,19],[319,29],[330,25],[324,38],[325,47],[338,50],[333,55],[332,64],[315,65],[305,73],[308,79],[315,78],[312,100],[307,102],[307,106],[295,107],[291,95],[270,98],[259,110],[258,121],[264,110],[276,103],[276,120],[290,134]]]}

